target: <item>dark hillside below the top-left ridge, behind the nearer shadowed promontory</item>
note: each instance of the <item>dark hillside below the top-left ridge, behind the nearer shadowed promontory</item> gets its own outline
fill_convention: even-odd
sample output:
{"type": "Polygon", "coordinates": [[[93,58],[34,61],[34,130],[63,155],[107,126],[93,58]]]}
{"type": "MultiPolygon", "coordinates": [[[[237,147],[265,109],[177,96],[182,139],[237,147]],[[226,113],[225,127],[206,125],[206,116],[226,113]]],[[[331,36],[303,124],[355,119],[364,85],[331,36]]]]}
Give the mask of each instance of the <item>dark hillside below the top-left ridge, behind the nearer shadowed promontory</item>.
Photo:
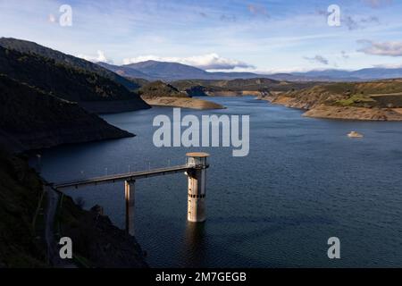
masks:
{"type": "MultiPolygon", "coordinates": [[[[0,73],[26,82],[56,97],[71,102],[130,101],[129,110],[147,108],[147,104],[121,84],[97,73],[57,63],[36,54],[21,54],[0,46],[0,73]]],[[[85,105],[89,111],[91,105],[85,105]]],[[[113,112],[113,105],[104,105],[103,111],[113,112]]],[[[116,110],[117,112],[118,110],[116,110]]]]}

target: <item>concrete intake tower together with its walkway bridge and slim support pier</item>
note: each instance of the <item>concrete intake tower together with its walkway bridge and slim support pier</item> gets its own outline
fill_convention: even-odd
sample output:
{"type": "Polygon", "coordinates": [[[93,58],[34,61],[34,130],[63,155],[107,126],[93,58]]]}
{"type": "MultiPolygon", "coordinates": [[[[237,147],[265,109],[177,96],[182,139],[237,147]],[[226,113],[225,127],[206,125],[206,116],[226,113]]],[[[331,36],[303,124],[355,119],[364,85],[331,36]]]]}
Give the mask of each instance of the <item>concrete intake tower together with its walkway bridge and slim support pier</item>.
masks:
{"type": "Polygon", "coordinates": [[[207,153],[195,152],[188,153],[186,164],[152,169],[140,172],[127,172],[120,174],[106,175],[102,177],[84,179],[80,181],[68,181],[61,183],[51,183],[54,189],[63,192],[64,189],[79,189],[85,186],[94,186],[103,183],[114,183],[124,181],[124,198],[125,198],[125,230],[132,233],[132,224],[134,221],[135,210],[135,183],[137,180],[151,178],[155,176],[163,176],[178,172],[184,172],[188,176],[188,222],[202,223],[205,222],[205,177],[206,169],[209,164],[206,158],[207,153]]]}

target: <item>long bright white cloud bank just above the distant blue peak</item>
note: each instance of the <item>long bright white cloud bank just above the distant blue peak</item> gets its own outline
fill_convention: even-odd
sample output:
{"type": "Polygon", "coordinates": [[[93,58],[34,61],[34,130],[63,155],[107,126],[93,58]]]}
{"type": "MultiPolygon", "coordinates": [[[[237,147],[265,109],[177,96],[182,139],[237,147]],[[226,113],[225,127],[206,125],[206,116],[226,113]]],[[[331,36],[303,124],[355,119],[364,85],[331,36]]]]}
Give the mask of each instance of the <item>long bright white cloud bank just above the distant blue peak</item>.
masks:
{"type": "Polygon", "coordinates": [[[123,59],[124,64],[145,61],[182,63],[195,66],[203,70],[233,70],[235,68],[253,68],[253,65],[238,60],[221,57],[217,54],[195,55],[189,57],[163,57],[157,55],[141,55],[123,59]]]}

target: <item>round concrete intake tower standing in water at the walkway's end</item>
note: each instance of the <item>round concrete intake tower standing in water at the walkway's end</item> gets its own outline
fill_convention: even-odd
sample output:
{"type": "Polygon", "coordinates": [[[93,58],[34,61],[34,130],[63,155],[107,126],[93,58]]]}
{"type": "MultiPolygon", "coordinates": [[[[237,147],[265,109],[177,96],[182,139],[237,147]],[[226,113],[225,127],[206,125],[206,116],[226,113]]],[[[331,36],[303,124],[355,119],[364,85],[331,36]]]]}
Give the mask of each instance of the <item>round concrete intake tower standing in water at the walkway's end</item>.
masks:
{"type": "Polygon", "coordinates": [[[205,222],[206,153],[188,153],[188,222],[205,222]]]}

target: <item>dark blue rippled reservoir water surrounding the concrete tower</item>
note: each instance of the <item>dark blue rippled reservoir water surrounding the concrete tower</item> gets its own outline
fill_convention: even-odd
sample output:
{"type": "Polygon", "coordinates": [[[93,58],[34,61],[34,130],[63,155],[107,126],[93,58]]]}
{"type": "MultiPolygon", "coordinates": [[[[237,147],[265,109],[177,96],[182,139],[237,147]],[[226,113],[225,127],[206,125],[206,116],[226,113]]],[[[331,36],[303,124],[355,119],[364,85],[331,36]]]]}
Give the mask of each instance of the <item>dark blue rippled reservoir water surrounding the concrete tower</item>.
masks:
{"type": "MultiPolygon", "coordinates": [[[[153,144],[157,114],[172,108],[103,116],[137,137],[43,151],[48,181],[183,164],[189,151],[211,154],[207,221],[187,223],[187,177],[136,183],[135,235],[152,267],[402,266],[402,122],[302,117],[302,111],[254,97],[210,97],[227,109],[182,115],[249,114],[250,153],[230,147],[153,144]],[[349,139],[357,130],[364,139],[349,139]],[[340,259],[327,257],[338,237],[340,259]]],[[[71,189],[85,207],[104,206],[124,226],[121,183],[71,189]]]]}

